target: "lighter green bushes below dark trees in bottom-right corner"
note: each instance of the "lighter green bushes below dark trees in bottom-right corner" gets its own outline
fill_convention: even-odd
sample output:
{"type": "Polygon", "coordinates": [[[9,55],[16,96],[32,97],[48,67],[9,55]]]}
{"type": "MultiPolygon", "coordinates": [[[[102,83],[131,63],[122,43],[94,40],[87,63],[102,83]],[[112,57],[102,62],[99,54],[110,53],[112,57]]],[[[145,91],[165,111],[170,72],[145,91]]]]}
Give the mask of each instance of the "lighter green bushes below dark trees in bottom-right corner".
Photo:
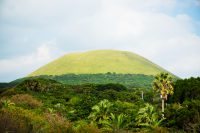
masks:
{"type": "Polygon", "coordinates": [[[171,104],[166,110],[166,126],[185,132],[200,131],[200,101],[185,101],[182,105],[171,104]]]}

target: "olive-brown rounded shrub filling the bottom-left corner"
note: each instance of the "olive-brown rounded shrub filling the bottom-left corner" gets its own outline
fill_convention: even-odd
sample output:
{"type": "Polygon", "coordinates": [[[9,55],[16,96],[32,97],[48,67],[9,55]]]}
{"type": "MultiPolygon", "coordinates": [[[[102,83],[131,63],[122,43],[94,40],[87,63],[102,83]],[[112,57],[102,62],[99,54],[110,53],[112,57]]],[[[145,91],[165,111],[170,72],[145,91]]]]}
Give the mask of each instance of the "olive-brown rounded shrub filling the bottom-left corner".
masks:
{"type": "Polygon", "coordinates": [[[30,110],[15,106],[0,110],[1,132],[45,132],[45,125],[45,120],[30,110]]]}

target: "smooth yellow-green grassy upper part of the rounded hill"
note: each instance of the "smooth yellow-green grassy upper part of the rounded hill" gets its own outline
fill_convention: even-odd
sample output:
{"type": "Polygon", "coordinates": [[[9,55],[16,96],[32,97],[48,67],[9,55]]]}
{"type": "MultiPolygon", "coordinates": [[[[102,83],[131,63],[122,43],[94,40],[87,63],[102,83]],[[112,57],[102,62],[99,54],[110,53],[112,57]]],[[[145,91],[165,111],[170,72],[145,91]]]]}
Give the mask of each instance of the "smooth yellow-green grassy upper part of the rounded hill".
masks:
{"type": "Polygon", "coordinates": [[[151,61],[131,52],[96,50],[64,55],[39,68],[29,76],[63,74],[120,74],[155,75],[166,71],[151,61]]]}

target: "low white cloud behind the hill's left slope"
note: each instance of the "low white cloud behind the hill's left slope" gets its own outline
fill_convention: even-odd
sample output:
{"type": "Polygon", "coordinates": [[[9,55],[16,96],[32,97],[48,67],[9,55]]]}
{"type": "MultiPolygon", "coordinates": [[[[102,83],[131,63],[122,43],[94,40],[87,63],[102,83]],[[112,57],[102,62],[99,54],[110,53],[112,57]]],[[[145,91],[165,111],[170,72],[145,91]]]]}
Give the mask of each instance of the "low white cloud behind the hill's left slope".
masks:
{"type": "MultiPolygon", "coordinates": [[[[14,75],[17,78],[21,78],[22,75],[27,74],[38,69],[42,65],[45,65],[49,61],[55,59],[57,56],[63,54],[56,48],[54,42],[42,43],[36,51],[28,55],[23,55],[19,57],[14,57],[11,59],[1,59],[0,60],[0,75],[14,75]]],[[[1,81],[6,81],[7,79],[2,78],[1,81]]],[[[10,80],[13,80],[12,76],[10,80]]]]}

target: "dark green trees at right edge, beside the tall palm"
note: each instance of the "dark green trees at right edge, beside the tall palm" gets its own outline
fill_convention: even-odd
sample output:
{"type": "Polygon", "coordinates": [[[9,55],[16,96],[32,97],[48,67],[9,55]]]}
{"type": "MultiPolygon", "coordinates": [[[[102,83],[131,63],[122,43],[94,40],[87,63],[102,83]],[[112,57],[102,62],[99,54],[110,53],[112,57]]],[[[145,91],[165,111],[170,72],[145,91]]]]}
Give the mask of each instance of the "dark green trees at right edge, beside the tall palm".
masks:
{"type": "Polygon", "coordinates": [[[177,80],[168,103],[166,127],[200,132],[200,77],[177,80]]]}

